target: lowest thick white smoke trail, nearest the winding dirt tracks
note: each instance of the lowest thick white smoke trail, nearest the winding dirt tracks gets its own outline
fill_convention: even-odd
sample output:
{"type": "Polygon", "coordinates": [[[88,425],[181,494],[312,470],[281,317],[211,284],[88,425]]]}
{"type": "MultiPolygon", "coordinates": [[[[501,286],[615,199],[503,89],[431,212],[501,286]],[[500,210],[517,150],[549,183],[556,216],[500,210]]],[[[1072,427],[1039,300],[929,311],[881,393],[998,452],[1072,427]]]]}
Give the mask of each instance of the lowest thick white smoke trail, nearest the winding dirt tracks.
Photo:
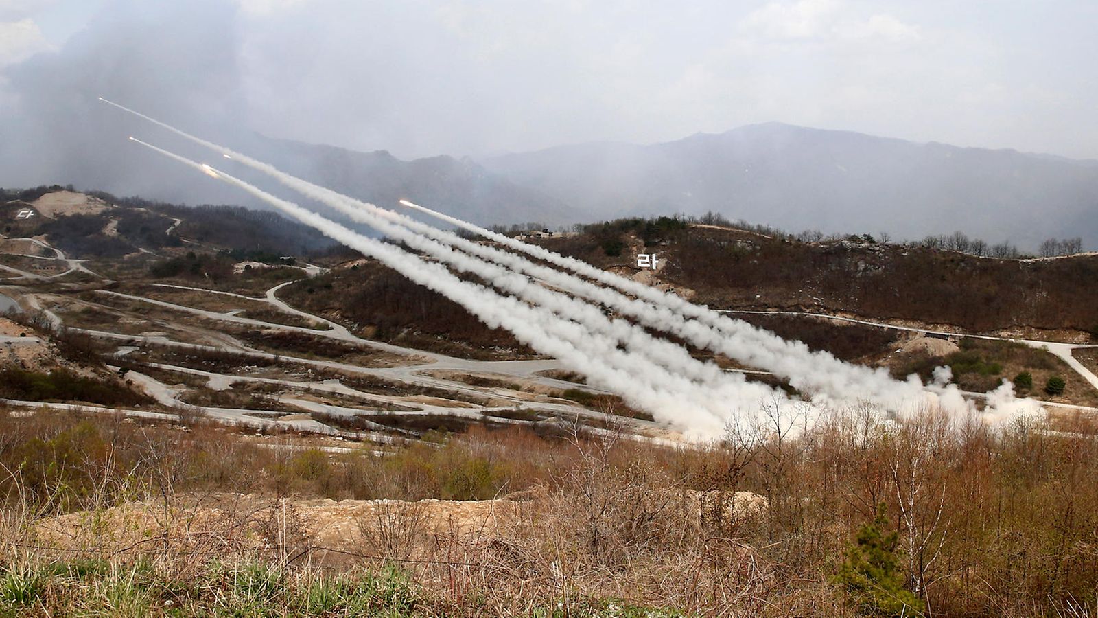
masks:
{"type": "MultiPolygon", "coordinates": [[[[550,354],[589,377],[595,386],[619,394],[626,402],[649,410],[661,421],[670,422],[694,435],[718,435],[725,426],[724,411],[729,401],[724,393],[706,393],[688,380],[671,376],[659,387],[646,377],[660,375],[659,367],[646,366],[642,357],[625,354],[585,332],[579,324],[547,314],[513,298],[502,297],[483,286],[462,282],[438,264],[432,264],[393,245],[358,234],[315,212],[267,194],[261,189],[186,157],[139,140],[134,142],[189,165],[210,176],[245,189],[279,208],[290,217],[322,231],[365,255],[374,257],[411,280],[424,285],[462,305],[490,327],[505,328],[515,336],[545,354],[550,354]],[[624,368],[623,368],[624,367],[624,368]],[[637,369],[635,373],[632,369],[637,369]],[[698,394],[706,396],[698,397],[698,394]]],[[[661,376],[661,379],[664,376],[661,376]]],[[[759,400],[772,396],[769,389],[748,385],[759,400]]],[[[743,404],[751,404],[743,400],[743,404]]]]}

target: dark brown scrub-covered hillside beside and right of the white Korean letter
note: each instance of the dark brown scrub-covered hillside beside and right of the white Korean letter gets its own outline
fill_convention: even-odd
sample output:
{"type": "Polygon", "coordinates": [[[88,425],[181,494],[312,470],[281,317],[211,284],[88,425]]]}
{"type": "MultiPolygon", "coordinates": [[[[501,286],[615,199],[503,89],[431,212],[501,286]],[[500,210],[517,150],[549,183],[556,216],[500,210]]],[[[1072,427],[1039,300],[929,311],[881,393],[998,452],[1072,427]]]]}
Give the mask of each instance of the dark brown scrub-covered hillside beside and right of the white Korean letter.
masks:
{"type": "MultiPolygon", "coordinates": [[[[822,235],[814,241],[817,235],[809,234],[797,242],[781,231],[722,223],[728,222],[713,224],[727,229],[668,233],[661,239],[668,244],[659,251],[666,264],[661,278],[696,290],[694,300],[710,306],[811,307],[954,324],[973,332],[1017,327],[1086,331],[1095,323],[1090,290],[1077,282],[1098,280],[1098,256],[1031,263],[983,260],[942,251],[938,241],[932,246],[900,245],[867,243],[859,236],[854,243],[822,235]]],[[[613,231],[617,223],[601,225],[613,231]]],[[[617,232],[612,236],[623,238],[617,232]]],[[[605,254],[605,240],[593,230],[537,242],[605,267],[619,263],[605,254]]],[[[994,256],[997,250],[989,246],[986,253],[994,256]]]]}

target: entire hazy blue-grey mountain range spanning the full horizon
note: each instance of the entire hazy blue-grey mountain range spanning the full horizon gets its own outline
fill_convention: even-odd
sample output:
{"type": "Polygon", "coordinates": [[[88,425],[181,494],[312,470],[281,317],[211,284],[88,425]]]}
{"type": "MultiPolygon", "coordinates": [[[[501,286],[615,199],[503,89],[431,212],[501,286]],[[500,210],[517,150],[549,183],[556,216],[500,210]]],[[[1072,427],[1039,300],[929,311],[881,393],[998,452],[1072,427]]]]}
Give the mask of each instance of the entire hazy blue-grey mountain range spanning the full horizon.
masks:
{"type": "MultiPolygon", "coordinates": [[[[53,164],[40,164],[53,161],[49,157],[24,156],[16,161],[30,162],[37,170],[8,166],[0,169],[0,184],[71,183],[81,189],[173,202],[259,206],[231,187],[197,179],[117,139],[132,129],[90,123],[81,129],[91,133],[76,146],[61,141],[41,146],[56,155],[53,164]]],[[[145,134],[146,128],[137,129],[145,134]]],[[[165,145],[172,147],[168,137],[165,145]]],[[[651,145],[589,143],[480,162],[445,155],[402,161],[385,151],[356,152],[254,134],[222,139],[285,172],[383,207],[408,198],[482,224],[557,225],[712,210],[791,232],[886,231],[914,240],[962,230],[989,243],[1009,240],[1029,251],[1052,236],[1082,236],[1085,249],[1098,249],[1098,162],[1051,155],[920,144],[776,122],[651,145]]],[[[175,145],[184,154],[192,147],[175,145]]]]}

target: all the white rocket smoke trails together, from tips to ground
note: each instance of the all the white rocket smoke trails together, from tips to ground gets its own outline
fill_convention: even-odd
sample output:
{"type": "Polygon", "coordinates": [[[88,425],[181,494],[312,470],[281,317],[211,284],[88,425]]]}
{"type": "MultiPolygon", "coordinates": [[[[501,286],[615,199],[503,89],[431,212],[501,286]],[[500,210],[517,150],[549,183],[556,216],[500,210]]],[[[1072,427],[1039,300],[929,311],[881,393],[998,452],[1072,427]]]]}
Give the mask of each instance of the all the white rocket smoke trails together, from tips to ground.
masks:
{"type": "MultiPolygon", "coordinates": [[[[806,410],[867,404],[899,415],[928,406],[975,412],[975,406],[965,400],[954,385],[948,384],[949,376],[942,372],[935,373],[934,384],[930,386],[923,386],[916,376],[896,380],[882,368],[844,363],[826,352],[811,352],[804,343],[783,340],[675,295],[402,200],[405,207],[484,235],[560,269],[470,242],[284,174],[264,162],[117,103],[104,102],[211,148],[226,159],[262,172],[303,196],[437,260],[438,263],[427,262],[223,172],[137,141],[242,188],[329,238],[381,261],[410,279],[459,302],[486,324],[505,328],[533,349],[558,357],[570,368],[586,375],[593,385],[613,390],[630,405],[652,412],[658,420],[688,435],[714,437],[730,422],[751,422],[786,396],[769,386],[749,383],[740,374],[725,373],[713,363],[699,362],[684,347],[654,338],[628,320],[607,318],[596,305],[610,307],[640,325],[675,334],[698,347],[724,353],[788,379],[806,397],[806,410]],[[475,275],[491,287],[462,280],[442,264],[475,275]]],[[[987,420],[1001,420],[1039,409],[1032,400],[1017,399],[1009,383],[984,398],[986,404],[982,413],[987,420]]]]}

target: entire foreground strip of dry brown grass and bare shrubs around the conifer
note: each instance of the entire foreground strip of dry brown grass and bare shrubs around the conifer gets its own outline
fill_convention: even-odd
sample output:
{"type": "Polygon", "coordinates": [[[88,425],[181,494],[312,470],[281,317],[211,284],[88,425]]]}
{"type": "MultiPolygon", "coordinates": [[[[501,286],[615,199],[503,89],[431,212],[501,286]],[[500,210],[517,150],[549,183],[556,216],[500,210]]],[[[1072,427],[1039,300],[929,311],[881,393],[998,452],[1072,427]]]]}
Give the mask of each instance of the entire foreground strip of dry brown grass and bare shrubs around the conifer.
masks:
{"type": "Polygon", "coordinates": [[[800,415],[771,407],[703,449],[473,428],[383,457],[202,423],[0,416],[0,603],[853,615],[831,575],[883,503],[905,586],[933,614],[1093,615],[1098,441],[1082,424],[865,409],[792,431],[800,415]],[[311,605],[322,589],[330,604],[311,605]]]}

